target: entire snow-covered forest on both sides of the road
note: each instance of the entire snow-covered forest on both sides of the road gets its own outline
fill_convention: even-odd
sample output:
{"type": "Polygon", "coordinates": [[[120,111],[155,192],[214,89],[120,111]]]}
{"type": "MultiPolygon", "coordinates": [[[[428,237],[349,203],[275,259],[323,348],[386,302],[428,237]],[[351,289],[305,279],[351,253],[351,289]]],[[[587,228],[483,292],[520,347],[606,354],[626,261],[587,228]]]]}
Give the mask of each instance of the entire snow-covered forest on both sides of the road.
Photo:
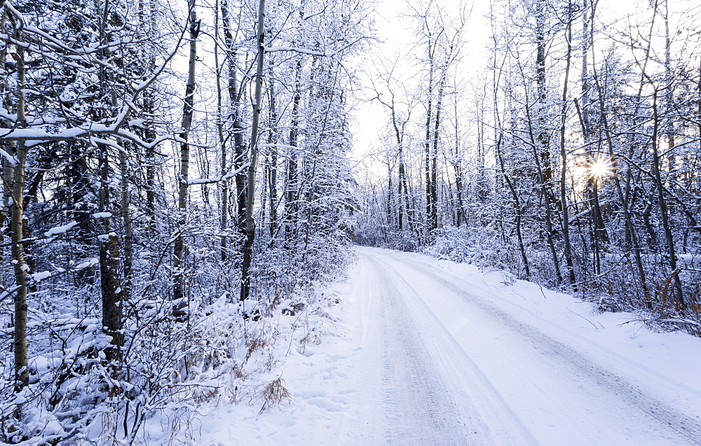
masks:
{"type": "Polygon", "coordinates": [[[701,335],[701,6],[603,3],[0,0],[0,442],[271,407],[353,244],[701,335]]]}

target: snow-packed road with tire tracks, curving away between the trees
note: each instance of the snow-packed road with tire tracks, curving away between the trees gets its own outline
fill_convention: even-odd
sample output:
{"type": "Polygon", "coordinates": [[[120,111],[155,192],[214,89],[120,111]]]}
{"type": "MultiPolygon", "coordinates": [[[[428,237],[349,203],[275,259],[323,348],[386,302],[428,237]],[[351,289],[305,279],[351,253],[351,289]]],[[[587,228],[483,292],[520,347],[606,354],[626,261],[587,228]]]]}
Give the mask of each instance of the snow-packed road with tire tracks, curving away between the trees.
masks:
{"type": "Polygon", "coordinates": [[[341,443],[701,443],[697,388],[421,256],[358,252],[364,371],[341,443]]]}

